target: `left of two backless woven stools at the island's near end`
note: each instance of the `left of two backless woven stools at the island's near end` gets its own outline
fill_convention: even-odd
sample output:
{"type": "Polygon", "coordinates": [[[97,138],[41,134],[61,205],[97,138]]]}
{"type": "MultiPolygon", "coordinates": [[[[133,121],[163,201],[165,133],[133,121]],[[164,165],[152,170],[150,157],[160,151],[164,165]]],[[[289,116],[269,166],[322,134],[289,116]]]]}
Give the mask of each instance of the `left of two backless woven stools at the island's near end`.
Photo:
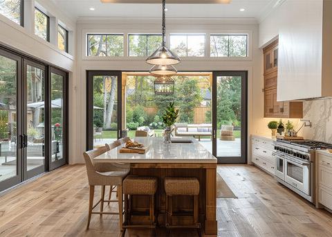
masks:
{"type": "Polygon", "coordinates": [[[124,194],[124,225],[125,229],[156,228],[156,215],[154,199],[157,191],[158,179],[156,177],[127,176],[122,184],[124,194]],[[150,225],[131,225],[131,215],[142,216],[143,213],[131,212],[131,198],[133,195],[149,196],[149,222],[150,225]]]}

